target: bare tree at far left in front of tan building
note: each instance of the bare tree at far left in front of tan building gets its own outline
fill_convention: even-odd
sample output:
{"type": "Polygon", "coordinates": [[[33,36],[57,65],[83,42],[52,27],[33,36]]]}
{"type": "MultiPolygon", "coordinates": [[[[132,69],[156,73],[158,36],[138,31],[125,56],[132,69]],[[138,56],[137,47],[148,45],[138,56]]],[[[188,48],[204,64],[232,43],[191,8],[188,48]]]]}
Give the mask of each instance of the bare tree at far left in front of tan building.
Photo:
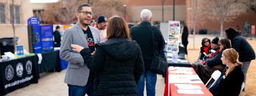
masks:
{"type": "MultiPolygon", "coordinates": [[[[4,0],[1,0],[4,1],[4,0]]],[[[5,0],[6,2],[8,0],[5,0]]],[[[16,51],[16,36],[15,36],[15,29],[19,28],[21,25],[20,24],[24,24],[24,21],[22,19],[20,19],[24,12],[20,9],[25,9],[23,4],[26,0],[12,0],[12,2],[10,3],[10,7],[7,6],[7,4],[5,4],[5,6],[0,6],[1,9],[4,10],[0,10],[2,13],[1,18],[3,17],[4,20],[6,20],[7,22],[10,22],[10,27],[13,29],[13,39],[14,39],[14,51],[16,51]],[[15,6],[15,5],[19,5],[19,6],[15,6]],[[4,8],[3,8],[4,7],[4,8]],[[10,12],[10,13],[8,13],[10,12]]],[[[6,23],[7,23],[6,22],[6,23]]]]}

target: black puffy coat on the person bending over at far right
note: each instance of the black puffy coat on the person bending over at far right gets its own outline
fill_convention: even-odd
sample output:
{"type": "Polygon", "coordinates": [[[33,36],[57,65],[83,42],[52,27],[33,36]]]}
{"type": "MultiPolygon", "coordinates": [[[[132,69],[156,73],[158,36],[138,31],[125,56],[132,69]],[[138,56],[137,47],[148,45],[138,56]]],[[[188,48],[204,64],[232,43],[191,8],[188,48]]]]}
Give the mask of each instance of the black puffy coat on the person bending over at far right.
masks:
{"type": "Polygon", "coordinates": [[[255,52],[252,46],[247,42],[247,40],[238,33],[234,38],[232,38],[231,45],[239,54],[239,61],[251,61],[255,60],[255,52]]]}

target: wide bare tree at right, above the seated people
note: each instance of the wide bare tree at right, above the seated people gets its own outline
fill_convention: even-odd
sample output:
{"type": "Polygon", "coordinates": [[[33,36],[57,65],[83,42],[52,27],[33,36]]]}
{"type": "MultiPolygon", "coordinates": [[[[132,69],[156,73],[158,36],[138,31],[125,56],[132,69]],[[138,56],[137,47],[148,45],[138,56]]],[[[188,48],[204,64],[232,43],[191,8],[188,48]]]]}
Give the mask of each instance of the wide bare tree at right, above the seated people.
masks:
{"type": "Polygon", "coordinates": [[[214,21],[220,22],[220,36],[223,38],[223,23],[230,22],[237,18],[237,16],[244,13],[245,4],[238,0],[205,0],[206,17],[214,21]]]}

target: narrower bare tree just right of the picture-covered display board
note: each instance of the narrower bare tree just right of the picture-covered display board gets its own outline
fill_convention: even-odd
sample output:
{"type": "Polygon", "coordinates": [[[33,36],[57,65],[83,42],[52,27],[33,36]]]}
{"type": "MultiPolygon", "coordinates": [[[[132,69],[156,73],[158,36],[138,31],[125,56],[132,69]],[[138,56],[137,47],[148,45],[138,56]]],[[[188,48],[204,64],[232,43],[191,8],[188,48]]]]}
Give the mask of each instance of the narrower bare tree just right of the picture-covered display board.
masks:
{"type": "Polygon", "coordinates": [[[190,0],[190,6],[191,8],[189,8],[188,10],[190,10],[191,12],[189,12],[190,14],[190,23],[191,23],[191,29],[194,29],[193,32],[193,49],[195,50],[195,30],[196,30],[196,26],[204,26],[205,23],[205,12],[204,12],[204,0],[190,0]]]}

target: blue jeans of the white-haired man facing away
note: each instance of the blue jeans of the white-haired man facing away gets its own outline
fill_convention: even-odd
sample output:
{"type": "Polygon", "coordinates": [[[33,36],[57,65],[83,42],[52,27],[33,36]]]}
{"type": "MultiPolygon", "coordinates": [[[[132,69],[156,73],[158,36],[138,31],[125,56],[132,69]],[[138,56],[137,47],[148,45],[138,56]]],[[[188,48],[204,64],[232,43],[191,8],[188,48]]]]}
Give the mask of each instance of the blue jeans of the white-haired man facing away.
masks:
{"type": "Polygon", "coordinates": [[[138,96],[144,95],[144,86],[145,86],[145,78],[146,78],[146,88],[147,95],[154,96],[156,95],[156,78],[157,74],[150,70],[145,70],[145,72],[140,77],[140,81],[137,85],[138,96]]]}

